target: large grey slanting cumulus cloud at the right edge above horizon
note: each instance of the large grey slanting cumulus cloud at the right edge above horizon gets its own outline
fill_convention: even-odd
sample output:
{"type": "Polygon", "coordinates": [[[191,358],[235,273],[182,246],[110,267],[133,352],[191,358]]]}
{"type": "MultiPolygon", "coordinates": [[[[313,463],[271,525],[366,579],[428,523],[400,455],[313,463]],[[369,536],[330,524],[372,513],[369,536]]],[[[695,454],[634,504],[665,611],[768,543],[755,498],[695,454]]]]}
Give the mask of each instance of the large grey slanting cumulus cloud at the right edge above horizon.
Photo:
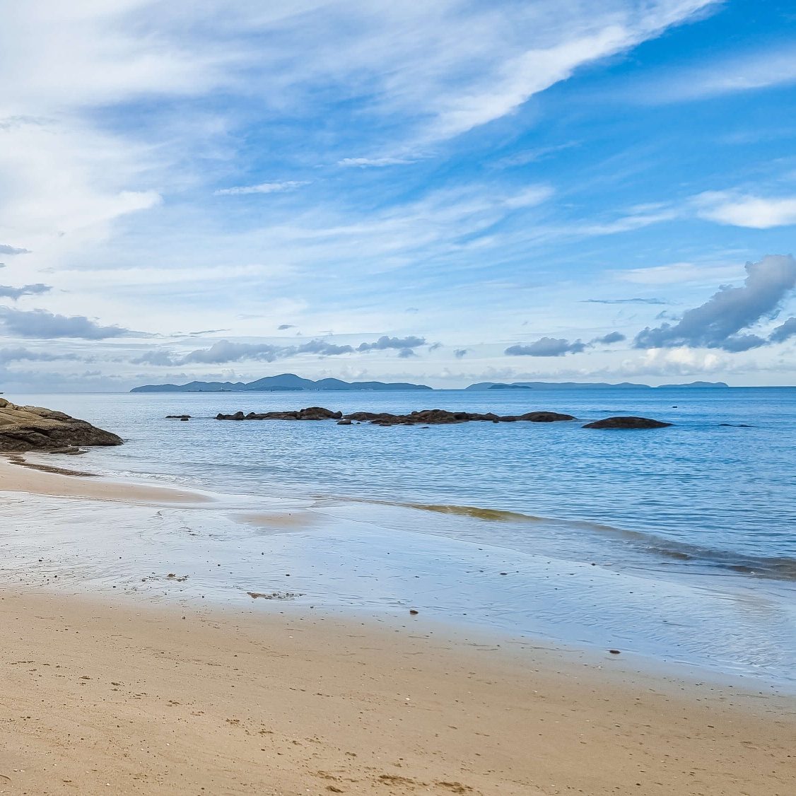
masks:
{"type": "Polygon", "coordinates": [[[739,334],[770,318],[796,286],[796,259],[769,255],[746,264],[742,287],[721,287],[701,306],[688,310],[676,324],[648,326],[636,335],[634,347],[724,349],[747,351],[767,345],[757,334],[739,334]]]}

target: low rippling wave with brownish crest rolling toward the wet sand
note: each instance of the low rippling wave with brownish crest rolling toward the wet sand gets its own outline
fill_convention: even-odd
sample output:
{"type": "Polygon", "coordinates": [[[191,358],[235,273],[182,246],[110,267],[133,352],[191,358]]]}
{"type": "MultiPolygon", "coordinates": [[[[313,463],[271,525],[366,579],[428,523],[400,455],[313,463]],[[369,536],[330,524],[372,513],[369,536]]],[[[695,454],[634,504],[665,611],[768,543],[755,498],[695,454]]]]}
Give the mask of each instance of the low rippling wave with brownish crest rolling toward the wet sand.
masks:
{"type": "MultiPolygon", "coordinates": [[[[389,503],[389,501],[374,501],[389,503]]],[[[537,517],[517,511],[486,509],[471,505],[447,505],[425,503],[395,502],[390,505],[401,505],[408,509],[433,511],[442,514],[455,514],[459,517],[470,517],[489,522],[509,523],[545,523],[558,525],[565,529],[579,529],[603,537],[624,540],[638,552],[648,553],[664,559],[677,560],[683,563],[701,564],[711,568],[738,572],[757,578],[777,580],[796,580],[796,559],[789,556],[755,556],[734,550],[707,547],[700,544],[678,541],[662,537],[655,533],[617,528],[599,522],[585,520],[560,520],[552,517],[537,517]]]]}

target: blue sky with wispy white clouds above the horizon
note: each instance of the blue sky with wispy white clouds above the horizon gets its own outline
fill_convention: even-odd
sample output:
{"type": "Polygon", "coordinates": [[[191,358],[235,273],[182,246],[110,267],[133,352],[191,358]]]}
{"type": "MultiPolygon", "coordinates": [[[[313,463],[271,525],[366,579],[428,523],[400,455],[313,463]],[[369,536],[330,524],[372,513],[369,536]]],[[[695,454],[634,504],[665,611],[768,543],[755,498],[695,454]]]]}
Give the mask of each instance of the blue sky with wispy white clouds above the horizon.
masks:
{"type": "Polygon", "coordinates": [[[0,0],[0,391],[796,384],[796,8],[0,0]]]}

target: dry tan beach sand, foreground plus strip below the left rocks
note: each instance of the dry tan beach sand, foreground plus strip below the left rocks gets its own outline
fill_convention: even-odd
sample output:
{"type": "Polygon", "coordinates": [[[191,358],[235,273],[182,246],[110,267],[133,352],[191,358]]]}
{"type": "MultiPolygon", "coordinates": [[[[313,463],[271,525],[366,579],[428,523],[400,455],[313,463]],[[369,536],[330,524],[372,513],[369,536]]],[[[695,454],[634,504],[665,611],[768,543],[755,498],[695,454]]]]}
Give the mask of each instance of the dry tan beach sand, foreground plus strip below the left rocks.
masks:
{"type": "MultiPolygon", "coordinates": [[[[11,465],[0,486],[146,499],[11,465]]],[[[423,615],[0,583],[0,650],[0,793],[796,793],[790,696],[423,615]]]]}

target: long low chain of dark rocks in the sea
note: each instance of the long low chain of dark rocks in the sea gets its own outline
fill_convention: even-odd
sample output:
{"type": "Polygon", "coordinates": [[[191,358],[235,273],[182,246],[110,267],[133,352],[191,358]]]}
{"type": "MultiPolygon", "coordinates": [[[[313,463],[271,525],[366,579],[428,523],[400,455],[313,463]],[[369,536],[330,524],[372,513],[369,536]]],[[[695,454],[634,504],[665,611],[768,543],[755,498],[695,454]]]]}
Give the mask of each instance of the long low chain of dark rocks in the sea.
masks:
{"type": "Polygon", "coordinates": [[[574,420],[572,415],[561,415],[558,412],[526,412],[525,415],[495,415],[493,412],[478,414],[477,412],[448,412],[447,409],[423,409],[410,412],[408,415],[393,415],[390,412],[332,412],[319,406],[299,409],[297,412],[264,412],[256,414],[236,412],[234,415],[219,414],[217,420],[338,420],[338,425],[357,423],[373,423],[377,426],[439,426],[450,423],[468,423],[471,420],[489,423],[516,423],[525,420],[529,423],[553,423],[557,420],[574,420]],[[347,421],[347,422],[345,422],[347,421]]]}

